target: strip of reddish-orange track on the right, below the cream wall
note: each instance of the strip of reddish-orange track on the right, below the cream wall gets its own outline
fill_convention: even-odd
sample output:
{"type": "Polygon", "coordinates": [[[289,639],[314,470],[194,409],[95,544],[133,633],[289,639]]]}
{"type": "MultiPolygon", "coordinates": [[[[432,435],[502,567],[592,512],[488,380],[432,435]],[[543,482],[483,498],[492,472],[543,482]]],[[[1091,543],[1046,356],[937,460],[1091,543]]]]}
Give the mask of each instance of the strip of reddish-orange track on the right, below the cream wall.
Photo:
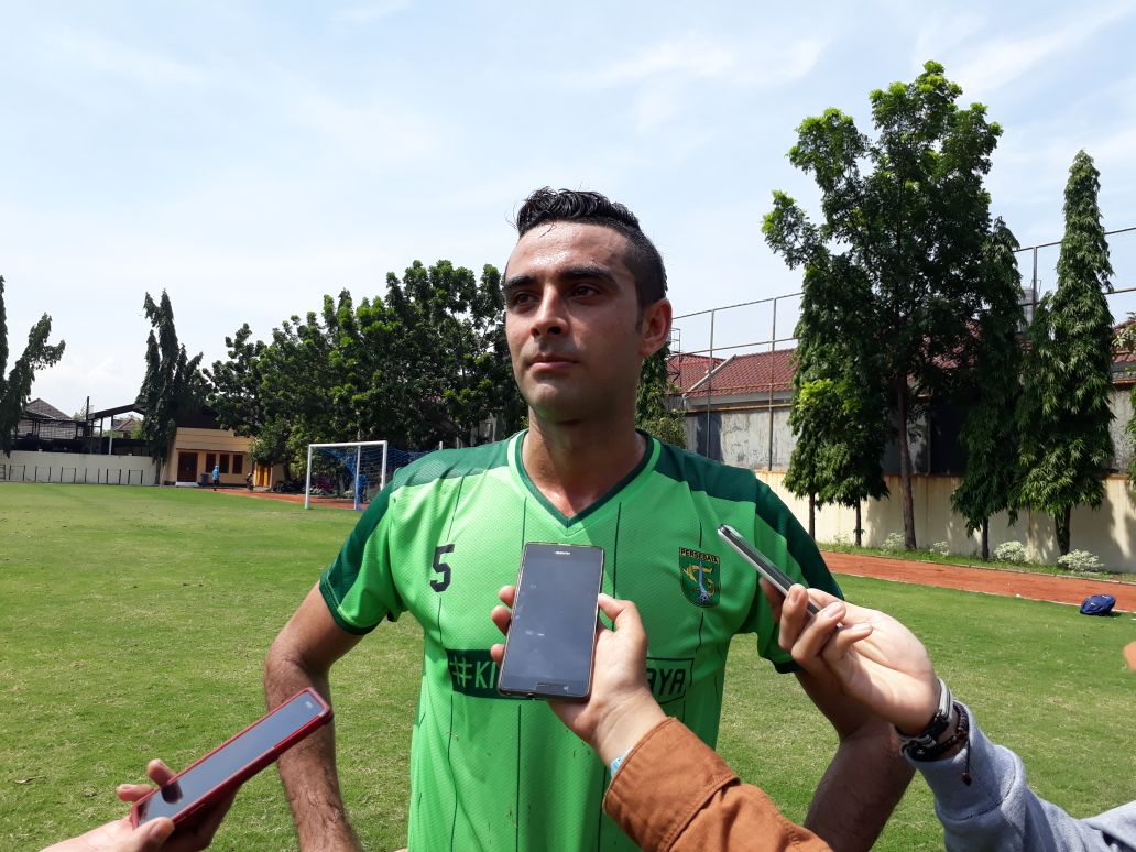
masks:
{"type": "Polygon", "coordinates": [[[967,592],[986,592],[1006,598],[1021,595],[1035,601],[1080,604],[1091,594],[1111,594],[1117,609],[1136,612],[1136,575],[1131,583],[1083,577],[1058,577],[994,568],[972,568],[963,565],[916,562],[907,559],[868,557],[859,553],[824,551],[825,561],[834,574],[857,577],[892,579],[899,583],[918,583],[942,588],[961,588],[967,592]]]}

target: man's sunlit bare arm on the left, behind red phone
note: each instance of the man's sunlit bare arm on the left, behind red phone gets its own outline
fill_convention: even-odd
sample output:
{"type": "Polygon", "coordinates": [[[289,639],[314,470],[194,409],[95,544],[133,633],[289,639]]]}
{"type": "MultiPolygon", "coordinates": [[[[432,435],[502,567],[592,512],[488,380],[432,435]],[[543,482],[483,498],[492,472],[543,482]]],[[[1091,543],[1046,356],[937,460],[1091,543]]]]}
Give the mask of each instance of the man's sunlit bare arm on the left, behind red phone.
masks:
{"type": "MultiPolygon", "coordinates": [[[[268,651],[265,660],[267,705],[274,708],[306,686],[314,687],[331,703],[328,673],[332,663],[354,648],[360,638],[335,624],[319,587],[314,587],[268,651]]],[[[360,850],[340,794],[334,724],[282,754],[279,772],[303,852],[360,850]]]]}

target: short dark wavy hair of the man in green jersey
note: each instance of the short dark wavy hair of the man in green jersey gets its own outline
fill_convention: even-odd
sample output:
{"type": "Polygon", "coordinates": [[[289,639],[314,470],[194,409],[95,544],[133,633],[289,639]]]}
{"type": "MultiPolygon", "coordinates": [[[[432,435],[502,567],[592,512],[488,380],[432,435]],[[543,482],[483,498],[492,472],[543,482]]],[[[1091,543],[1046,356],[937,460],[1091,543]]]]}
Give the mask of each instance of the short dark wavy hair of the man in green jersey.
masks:
{"type": "Polygon", "coordinates": [[[601,225],[623,234],[628,251],[624,258],[635,276],[640,310],[667,295],[667,270],[662,256],[640,227],[638,218],[618,201],[585,190],[556,191],[544,186],[527,199],[517,211],[517,232],[524,236],[540,225],[556,222],[579,222],[601,225]]]}

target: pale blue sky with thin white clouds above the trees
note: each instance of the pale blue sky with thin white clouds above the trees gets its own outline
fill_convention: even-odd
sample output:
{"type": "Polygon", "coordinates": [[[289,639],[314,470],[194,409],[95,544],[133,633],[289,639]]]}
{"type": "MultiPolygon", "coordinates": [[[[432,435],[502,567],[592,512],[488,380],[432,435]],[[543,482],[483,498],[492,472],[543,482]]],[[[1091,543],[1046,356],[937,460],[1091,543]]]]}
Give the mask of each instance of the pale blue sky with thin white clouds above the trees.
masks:
{"type": "MultiPolygon", "coordinates": [[[[1134,2],[0,0],[0,32],[10,358],[50,314],[66,352],[32,396],[67,414],[134,400],[147,292],[208,365],[243,323],[267,340],[415,260],[503,267],[544,185],[638,215],[704,349],[710,315],[683,315],[800,287],[761,236],[774,190],[817,214],[796,127],[837,107],[870,133],[869,92],[928,59],[1003,127],[987,187],[1024,247],[1060,240],[1080,149],[1105,227],[1136,226],[1134,2]]],[[[1111,244],[1136,286],[1136,231],[1111,244]]],[[[787,337],[797,300],[776,304],[787,337]]],[[[718,311],[716,349],[768,341],[771,306],[718,311]]]]}

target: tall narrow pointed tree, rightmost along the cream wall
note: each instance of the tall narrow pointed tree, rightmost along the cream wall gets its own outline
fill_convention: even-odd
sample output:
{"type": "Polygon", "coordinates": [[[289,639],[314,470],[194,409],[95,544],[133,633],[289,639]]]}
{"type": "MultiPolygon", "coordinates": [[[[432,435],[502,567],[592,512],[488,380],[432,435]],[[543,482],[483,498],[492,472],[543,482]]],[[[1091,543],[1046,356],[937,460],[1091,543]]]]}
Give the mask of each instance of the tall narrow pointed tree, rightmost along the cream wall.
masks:
{"type": "Polygon", "coordinates": [[[1101,224],[1100,173],[1079,151],[1066,184],[1066,231],[1058,287],[1037,307],[1026,359],[1021,424],[1021,503],[1053,516],[1069,552],[1075,506],[1100,508],[1112,457],[1112,265],[1101,224]]]}

